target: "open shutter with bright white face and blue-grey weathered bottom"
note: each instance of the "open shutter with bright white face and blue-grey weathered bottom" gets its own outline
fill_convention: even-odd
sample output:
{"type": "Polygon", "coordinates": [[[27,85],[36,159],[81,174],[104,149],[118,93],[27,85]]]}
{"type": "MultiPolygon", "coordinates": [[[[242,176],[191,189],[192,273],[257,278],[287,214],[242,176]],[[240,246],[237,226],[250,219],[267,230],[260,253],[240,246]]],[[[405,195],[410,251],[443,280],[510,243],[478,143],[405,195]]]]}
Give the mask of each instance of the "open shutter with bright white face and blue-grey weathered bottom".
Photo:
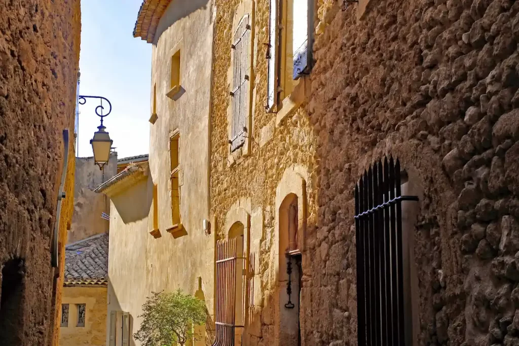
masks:
{"type": "MultiPolygon", "coordinates": [[[[298,79],[307,74],[311,63],[311,32],[313,10],[308,7],[309,0],[294,0],[294,26],[292,47],[294,50],[294,68],[292,76],[298,79]]],[[[313,4],[313,2],[312,2],[313,4]]]]}

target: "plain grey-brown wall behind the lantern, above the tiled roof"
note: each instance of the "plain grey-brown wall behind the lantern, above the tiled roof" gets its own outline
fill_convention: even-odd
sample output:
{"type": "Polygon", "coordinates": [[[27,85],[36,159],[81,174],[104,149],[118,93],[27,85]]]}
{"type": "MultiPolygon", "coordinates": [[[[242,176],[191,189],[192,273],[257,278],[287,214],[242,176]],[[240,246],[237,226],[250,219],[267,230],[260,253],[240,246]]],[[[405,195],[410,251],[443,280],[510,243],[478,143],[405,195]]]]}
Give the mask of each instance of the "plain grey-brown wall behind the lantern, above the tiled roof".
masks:
{"type": "Polygon", "coordinates": [[[112,153],[104,170],[94,164],[93,157],[76,157],[74,215],[67,244],[92,235],[108,233],[110,222],[101,218],[110,214],[110,201],[93,190],[117,174],[117,153],[112,153]]]}

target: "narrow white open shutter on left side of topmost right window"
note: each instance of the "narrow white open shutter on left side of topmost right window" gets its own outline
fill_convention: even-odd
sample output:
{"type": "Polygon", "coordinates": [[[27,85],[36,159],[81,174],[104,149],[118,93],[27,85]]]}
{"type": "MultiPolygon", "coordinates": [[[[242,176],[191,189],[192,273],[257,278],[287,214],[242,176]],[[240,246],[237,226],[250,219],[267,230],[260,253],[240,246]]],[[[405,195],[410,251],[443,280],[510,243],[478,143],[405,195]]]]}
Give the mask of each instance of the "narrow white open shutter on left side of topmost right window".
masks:
{"type": "MultiPolygon", "coordinates": [[[[297,1],[297,0],[296,0],[297,1]]],[[[278,54],[278,0],[270,0],[270,24],[268,39],[268,84],[267,111],[270,111],[277,98],[277,54],[278,54]]]]}

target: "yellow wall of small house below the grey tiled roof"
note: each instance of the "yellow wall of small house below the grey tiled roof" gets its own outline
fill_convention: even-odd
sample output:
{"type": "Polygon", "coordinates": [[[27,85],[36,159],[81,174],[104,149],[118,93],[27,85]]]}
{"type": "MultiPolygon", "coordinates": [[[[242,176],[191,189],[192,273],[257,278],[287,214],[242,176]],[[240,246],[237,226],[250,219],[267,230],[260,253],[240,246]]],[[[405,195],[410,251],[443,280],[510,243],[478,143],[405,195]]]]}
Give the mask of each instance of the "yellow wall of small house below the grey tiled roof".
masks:
{"type": "Polygon", "coordinates": [[[60,346],[106,345],[106,286],[63,287],[62,303],[69,304],[69,325],[60,328],[60,346]],[[77,326],[77,304],[85,304],[85,326],[77,326]]]}

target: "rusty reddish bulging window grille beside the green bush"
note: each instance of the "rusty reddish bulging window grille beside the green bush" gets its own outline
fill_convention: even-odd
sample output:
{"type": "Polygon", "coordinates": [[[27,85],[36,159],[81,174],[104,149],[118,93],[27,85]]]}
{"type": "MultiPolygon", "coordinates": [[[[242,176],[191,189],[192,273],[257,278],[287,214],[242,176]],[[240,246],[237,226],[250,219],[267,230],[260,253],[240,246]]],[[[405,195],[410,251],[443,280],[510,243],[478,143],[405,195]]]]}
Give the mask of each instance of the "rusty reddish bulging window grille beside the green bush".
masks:
{"type": "Polygon", "coordinates": [[[213,346],[234,346],[236,328],[236,275],[243,268],[237,268],[236,238],[218,241],[216,244],[216,318],[215,341],[213,346]]]}

